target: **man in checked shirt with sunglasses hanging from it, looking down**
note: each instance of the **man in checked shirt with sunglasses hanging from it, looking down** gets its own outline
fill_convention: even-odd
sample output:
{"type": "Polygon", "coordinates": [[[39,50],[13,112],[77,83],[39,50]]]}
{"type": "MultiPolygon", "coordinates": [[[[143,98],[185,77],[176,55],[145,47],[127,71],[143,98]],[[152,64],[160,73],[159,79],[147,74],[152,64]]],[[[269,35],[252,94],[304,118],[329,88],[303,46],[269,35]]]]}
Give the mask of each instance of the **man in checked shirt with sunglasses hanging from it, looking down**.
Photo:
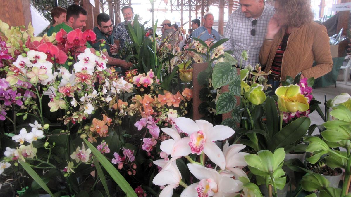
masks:
{"type": "Polygon", "coordinates": [[[264,0],[239,0],[239,3],[239,9],[230,15],[225,27],[223,37],[229,40],[224,43],[224,48],[233,51],[238,61],[246,50],[249,59],[243,60],[243,66],[255,66],[259,63],[258,55],[274,8],[264,0]]]}

